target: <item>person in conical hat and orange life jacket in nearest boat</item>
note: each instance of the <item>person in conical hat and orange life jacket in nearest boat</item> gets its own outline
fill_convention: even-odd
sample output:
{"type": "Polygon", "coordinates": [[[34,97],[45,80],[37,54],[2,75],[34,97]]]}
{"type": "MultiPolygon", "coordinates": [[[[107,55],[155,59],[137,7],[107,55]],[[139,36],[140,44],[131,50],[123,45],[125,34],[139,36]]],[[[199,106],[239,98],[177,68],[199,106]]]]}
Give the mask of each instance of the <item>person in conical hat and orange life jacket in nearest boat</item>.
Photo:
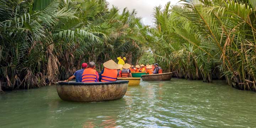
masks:
{"type": "Polygon", "coordinates": [[[101,82],[111,82],[117,80],[117,63],[114,60],[108,60],[103,63],[104,69],[100,73],[101,82]]]}

